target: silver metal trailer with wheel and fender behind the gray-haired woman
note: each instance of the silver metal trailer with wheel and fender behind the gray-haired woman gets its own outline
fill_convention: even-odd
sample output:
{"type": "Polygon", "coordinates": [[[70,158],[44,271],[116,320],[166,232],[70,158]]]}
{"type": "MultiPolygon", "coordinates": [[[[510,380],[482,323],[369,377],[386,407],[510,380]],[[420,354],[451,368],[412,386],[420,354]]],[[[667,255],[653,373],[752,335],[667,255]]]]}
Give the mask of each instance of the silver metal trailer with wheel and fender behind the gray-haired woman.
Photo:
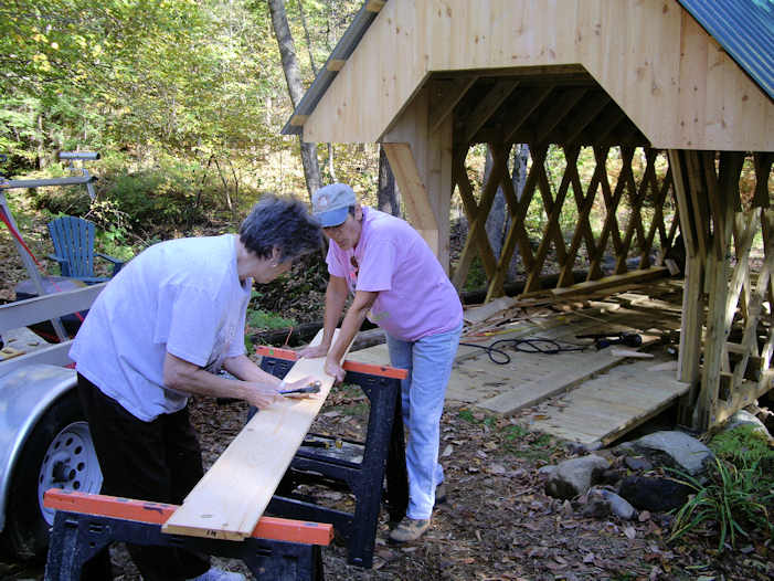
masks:
{"type": "MultiPolygon", "coordinates": [[[[60,159],[97,159],[93,152],[62,152],[60,159]]],[[[102,472],[78,401],[76,372],[67,357],[72,339],[62,317],[88,310],[107,283],[46,294],[4,191],[43,186],[85,186],[94,177],[8,180],[0,177],[0,212],[38,296],[0,306],[0,549],[20,559],[43,558],[54,510],[43,493],[98,493],[102,472]],[[30,327],[50,321],[56,342],[30,327]]],[[[60,285],[64,286],[64,285],[60,285]]]]}

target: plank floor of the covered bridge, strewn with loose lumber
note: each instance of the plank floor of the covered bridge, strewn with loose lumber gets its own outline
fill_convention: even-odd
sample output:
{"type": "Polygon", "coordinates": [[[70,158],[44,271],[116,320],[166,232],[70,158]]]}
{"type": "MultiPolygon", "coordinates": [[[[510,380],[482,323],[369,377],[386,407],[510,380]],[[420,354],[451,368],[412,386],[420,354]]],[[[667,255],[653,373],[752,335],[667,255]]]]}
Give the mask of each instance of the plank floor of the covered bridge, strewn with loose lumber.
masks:
{"type": "MultiPolygon", "coordinates": [[[[598,297],[589,308],[518,320],[496,334],[463,338],[491,345],[501,339],[547,338],[583,344],[576,335],[638,331],[645,345],[680,327],[680,282],[665,279],[598,297]]],[[[497,365],[483,349],[460,346],[446,399],[488,413],[520,414],[538,430],[590,443],[611,442],[653,418],[688,385],[667,359],[615,357],[613,349],[526,353],[507,348],[510,362],[497,365]],[[660,365],[660,368],[659,368],[660,365]],[[651,370],[656,368],[656,370],[651,370]],[[660,370],[659,370],[660,369],[660,370]],[[559,403],[549,403],[558,399],[559,403]],[[539,406],[538,411],[530,409],[539,406]]],[[[350,359],[383,365],[385,345],[350,353],[350,359]]]]}

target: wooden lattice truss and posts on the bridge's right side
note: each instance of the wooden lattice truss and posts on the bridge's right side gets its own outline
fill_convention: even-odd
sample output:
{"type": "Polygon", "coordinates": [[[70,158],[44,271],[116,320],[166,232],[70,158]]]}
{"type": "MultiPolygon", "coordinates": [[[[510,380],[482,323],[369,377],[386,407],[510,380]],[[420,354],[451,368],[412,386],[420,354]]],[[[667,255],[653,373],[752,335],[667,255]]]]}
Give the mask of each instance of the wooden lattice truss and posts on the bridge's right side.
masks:
{"type": "Polygon", "coordinates": [[[687,252],[680,373],[693,389],[685,420],[706,429],[771,387],[774,156],[746,156],[755,184],[752,198],[743,200],[744,154],[669,155],[687,252]],[[752,268],[751,250],[759,235],[763,260],[760,268],[752,268]]]}

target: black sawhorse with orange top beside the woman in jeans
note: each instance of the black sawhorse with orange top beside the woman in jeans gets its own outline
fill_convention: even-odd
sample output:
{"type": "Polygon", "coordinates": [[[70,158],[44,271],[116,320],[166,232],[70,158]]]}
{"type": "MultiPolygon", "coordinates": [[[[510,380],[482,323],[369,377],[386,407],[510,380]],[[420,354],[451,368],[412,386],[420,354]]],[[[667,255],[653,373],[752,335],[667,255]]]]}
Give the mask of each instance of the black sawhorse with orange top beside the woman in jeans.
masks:
{"type": "MultiPolygon", "coordinates": [[[[256,352],[263,357],[261,368],[278,378],[284,378],[298,359],[295,351],[274,347],[258,347],[256,352]]],[[[336,534],[347,542],[348,561],[370,568],[385,475],[390,519],[401,520],[409,506],[401,415],[401,380],[406,378],[407,371],[354,361],[344,361],[343,369],[347,371],[346,382],[360,387],[371,403],[365,442],[309,434],[306,445],[298,448],[267,511],[332,524],[336,534]],[[354,513],[285,496],[303,482],[343,483],[354,495],[354,513]]]]}

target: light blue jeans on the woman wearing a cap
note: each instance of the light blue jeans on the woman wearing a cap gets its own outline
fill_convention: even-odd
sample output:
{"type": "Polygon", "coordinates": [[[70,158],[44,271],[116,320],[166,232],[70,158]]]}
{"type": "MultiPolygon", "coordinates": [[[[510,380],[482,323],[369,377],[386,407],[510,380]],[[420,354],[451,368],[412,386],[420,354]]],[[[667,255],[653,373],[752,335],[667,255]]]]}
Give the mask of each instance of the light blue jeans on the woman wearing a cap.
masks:
{"type": "Polygon", "coordinates": [[[452,331],[418,341],[386,336],[392,366],[409,370],[409,377],[401,381],[403,423],[409,429],[409,518],[431,517],[435,487],[444,482],[444,469],[438,464],[441,414],[462,330],[460,324],[452,331]]]}

